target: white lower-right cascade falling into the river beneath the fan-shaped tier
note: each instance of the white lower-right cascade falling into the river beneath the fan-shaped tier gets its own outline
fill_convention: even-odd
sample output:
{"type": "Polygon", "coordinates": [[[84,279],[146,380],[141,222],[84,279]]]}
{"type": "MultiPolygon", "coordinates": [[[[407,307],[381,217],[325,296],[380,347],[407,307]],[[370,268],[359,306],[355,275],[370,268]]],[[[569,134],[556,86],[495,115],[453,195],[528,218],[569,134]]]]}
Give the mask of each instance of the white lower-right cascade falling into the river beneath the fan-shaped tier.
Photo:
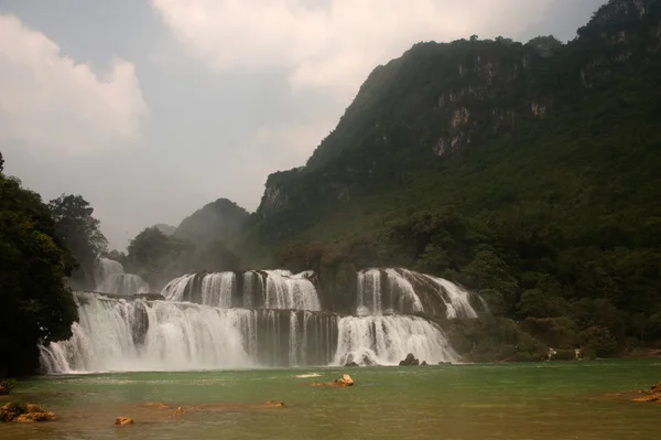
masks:
{"type": "Polygon", "coordinates": [[[339,320],[335,364],[397,365],[409,353],[427,363],[456,362],[436,325],[416,316],[348,316],[339,320]]]}

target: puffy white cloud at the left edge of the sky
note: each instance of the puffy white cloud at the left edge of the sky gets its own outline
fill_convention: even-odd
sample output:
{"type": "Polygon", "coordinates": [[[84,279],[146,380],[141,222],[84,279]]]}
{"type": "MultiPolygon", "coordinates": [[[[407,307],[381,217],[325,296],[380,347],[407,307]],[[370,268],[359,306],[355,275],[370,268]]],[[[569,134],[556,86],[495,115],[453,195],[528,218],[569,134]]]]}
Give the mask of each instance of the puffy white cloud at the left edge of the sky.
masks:
{"type": "Polygon", "coordinates": [[[148,114],[132,63],[98,77],[44,34],[0,14],[0,142],[87,153],[140,139],[148,114]]]}

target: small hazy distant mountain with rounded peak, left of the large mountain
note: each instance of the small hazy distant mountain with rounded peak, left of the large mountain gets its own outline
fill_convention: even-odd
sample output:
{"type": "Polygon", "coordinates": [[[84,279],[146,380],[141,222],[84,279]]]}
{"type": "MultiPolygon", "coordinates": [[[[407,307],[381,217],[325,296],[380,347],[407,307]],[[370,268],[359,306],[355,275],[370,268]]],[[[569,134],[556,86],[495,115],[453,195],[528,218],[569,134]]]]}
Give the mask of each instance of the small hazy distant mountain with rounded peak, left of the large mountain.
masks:
{"type": "Polygon", "coordinates": [[[173,236],[204,248],[213,242],[228,242],[239,232],[248,212],[227,198],[218,198],[184,218],[173,236]]]}

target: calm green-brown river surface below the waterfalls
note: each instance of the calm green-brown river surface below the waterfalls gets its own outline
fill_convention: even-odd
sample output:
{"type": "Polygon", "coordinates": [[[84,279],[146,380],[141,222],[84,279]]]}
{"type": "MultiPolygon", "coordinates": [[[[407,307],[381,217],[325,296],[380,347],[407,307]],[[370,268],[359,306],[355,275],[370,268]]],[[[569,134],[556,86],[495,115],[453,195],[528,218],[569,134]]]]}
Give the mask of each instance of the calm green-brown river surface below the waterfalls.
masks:
{"type": "Polygon", "coordinates": [[[659,380],[661,359],[48,376],[11,399],[59,419],[0,423],[0,440],[652,439],[661,405],[618,393],[659,380]],[[357,385],[310,386],[343,373],[357,385]],[[308,375],[319,376],[296,377],[308,375]]]}

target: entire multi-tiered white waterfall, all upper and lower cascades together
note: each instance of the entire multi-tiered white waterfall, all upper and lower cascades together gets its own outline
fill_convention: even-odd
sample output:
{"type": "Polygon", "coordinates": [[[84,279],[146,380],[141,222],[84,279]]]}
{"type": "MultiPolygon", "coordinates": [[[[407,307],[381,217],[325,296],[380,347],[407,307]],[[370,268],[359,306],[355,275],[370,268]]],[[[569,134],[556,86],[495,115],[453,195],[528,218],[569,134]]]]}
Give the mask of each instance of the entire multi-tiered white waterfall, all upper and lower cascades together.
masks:
{"type": "MultiPolygon", "coordinates": [[[[100,288],[140,291],[117,261],[99,261],[100,288]],[[115,285],[110,282],[113,280],[115,285]]],[[[398,364],[409,353],[455,362],[434,323],[410,314],[476,318],[481,298],[407,269],[357,273],[357,314],[321,311],[312,271],[201,272],[178,277],[165,301],[75,292],[79,320],[67,341],[40,346],[45,373],[186,371],[398,364]]],[[[481,302],[481,303],[480,303],[481,302]]]]}

